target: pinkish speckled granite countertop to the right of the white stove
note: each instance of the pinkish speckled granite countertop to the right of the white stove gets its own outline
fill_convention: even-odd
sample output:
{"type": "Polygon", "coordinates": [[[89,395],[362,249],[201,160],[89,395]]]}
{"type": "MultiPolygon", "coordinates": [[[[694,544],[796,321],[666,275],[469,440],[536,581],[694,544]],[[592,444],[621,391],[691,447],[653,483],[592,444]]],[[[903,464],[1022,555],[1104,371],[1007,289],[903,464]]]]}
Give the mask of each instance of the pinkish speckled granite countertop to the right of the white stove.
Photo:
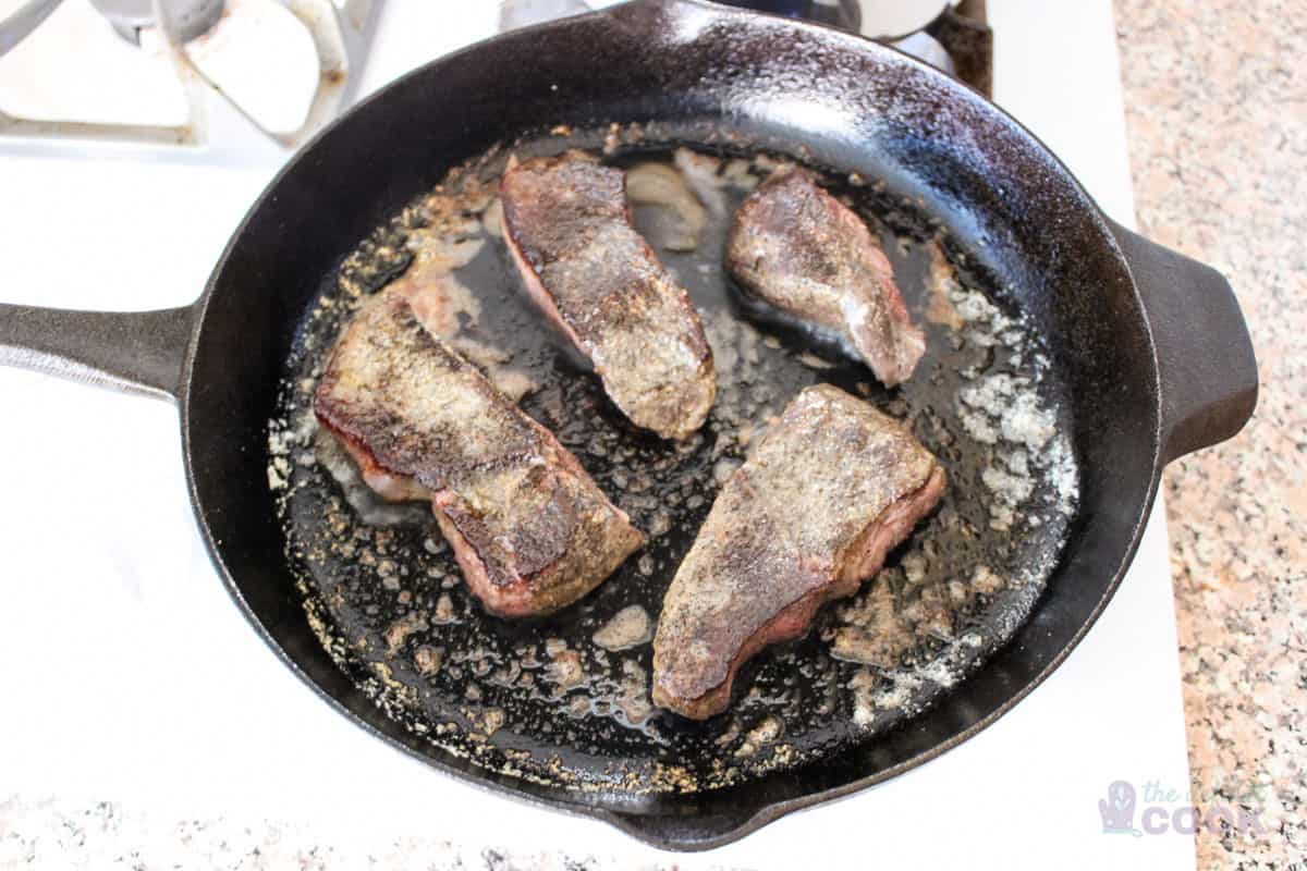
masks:
{"type": "MultiPolygon", "coordinates": [[[[1291,0],[1116,0],[1140,230],[1222,270],[1261,396],[1166,475],[1199,867],[1307,855],[1307,16],[1291,0]]],[[[1302,866],[1298,866],[1302,867],[1302,866]]]]}

